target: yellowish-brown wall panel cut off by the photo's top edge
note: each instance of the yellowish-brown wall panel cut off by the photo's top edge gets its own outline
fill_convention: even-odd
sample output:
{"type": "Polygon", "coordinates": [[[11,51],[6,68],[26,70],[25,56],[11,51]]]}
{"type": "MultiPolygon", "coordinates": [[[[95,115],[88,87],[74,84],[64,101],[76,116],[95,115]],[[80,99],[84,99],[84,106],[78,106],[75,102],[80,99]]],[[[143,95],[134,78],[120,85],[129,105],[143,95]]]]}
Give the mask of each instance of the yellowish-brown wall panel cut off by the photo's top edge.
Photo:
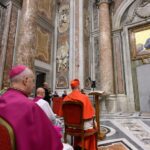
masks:
{"type": "Polygon", "coordinates": [[[54,8],[55,8],[54,0],[39,0],[38,1],[39,14],[44,16],[48,20],[52,20],[54,8]]]}

